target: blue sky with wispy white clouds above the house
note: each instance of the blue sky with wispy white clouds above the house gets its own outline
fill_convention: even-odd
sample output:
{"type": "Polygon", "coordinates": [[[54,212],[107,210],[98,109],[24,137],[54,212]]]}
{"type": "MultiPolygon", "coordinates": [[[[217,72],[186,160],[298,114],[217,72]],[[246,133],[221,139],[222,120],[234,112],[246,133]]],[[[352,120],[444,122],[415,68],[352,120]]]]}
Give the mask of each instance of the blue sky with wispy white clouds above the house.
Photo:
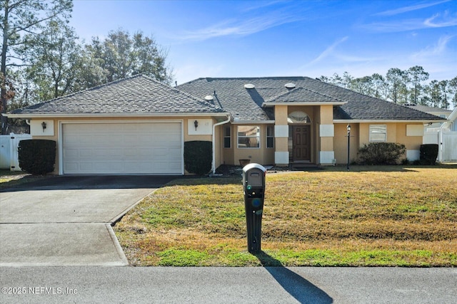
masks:
{"type": "Polygon", "coordinates": [[[168,50],[178,83],[200,77],[354,77],[423,66],[457,76],[457,0],[74,0],[80,38],[123,28],[168,50]]]}

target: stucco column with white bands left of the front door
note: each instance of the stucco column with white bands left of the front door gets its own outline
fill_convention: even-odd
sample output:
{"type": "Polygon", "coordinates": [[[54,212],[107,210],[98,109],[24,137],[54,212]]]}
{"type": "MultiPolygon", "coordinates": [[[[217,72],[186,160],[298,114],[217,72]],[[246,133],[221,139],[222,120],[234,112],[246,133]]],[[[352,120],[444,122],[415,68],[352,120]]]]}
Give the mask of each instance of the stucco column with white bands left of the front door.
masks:
{"type": "Polygon", "coordinates": [[[276,105],[274,118],[274,162],[276,166],[288,166],[287,105],[276,105]]]}

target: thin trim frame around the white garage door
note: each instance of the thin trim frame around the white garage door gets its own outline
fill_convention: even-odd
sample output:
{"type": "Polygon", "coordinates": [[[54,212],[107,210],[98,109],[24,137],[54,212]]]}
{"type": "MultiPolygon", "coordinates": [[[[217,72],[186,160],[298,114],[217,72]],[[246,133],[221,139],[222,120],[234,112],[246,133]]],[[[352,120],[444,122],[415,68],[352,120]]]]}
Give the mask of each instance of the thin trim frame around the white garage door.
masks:
{"type": "MultiPolygon", "coordinates": [[[[129,124],[129,123],[179,123],[181,132],[181,175],[184,174],[184,120],[59,120],[59,175],[64,174],[64,125],[66,124],[129,124]]],[[[131,173],[135,174],[135,173],[131,173]]],[[[141,173],[139,173],[141,174],[141,173]]],[[[169,173],[171,175],[176,173],[169,173]]],[[[71,174],[66,174],[71,175],[71,174]]],[[[89,174],[90,175],[90,174],[89,174]]],[[[102,174],[101,174],[102,175],[102,174]]],[[[111,174],[112,175],[112,174],[111,174]]],[[[145,174],[146,175],[146,174],[145,174]]],[[[151,173],[154,175],[154,173],[151,173]]],[[[159,175],[159,173],[157,173],[159,175]]],[[[160,175],[166,175],[160,174],[160,175]]]]}

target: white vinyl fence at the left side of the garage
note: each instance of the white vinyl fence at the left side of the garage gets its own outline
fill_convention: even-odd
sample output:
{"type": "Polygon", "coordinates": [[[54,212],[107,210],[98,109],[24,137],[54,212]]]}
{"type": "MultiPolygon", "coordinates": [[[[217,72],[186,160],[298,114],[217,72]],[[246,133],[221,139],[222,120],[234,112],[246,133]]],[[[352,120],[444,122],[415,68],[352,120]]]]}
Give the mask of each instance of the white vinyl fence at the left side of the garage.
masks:
{"type": "Polygon", "coordinates": [[[17,147],[21,140],[31,140],[30,134],[0,135],[0,169],[21,171],[17,147]]]}

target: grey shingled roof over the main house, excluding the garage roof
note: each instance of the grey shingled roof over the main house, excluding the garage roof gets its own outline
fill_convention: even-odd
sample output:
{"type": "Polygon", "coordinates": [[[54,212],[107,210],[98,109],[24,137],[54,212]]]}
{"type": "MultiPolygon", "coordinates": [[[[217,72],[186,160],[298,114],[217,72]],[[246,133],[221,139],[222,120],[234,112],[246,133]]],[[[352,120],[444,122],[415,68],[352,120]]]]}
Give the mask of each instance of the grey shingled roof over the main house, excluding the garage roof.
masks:
{"type": "Polygon", "coordinates": [[[214,95],[224,110],[243,121],[274,120],[270,105],[277,103],[335,105],[334,120],[442,120],[308,77],[199,78],[177,88],[199,97],[214,95]]]}

